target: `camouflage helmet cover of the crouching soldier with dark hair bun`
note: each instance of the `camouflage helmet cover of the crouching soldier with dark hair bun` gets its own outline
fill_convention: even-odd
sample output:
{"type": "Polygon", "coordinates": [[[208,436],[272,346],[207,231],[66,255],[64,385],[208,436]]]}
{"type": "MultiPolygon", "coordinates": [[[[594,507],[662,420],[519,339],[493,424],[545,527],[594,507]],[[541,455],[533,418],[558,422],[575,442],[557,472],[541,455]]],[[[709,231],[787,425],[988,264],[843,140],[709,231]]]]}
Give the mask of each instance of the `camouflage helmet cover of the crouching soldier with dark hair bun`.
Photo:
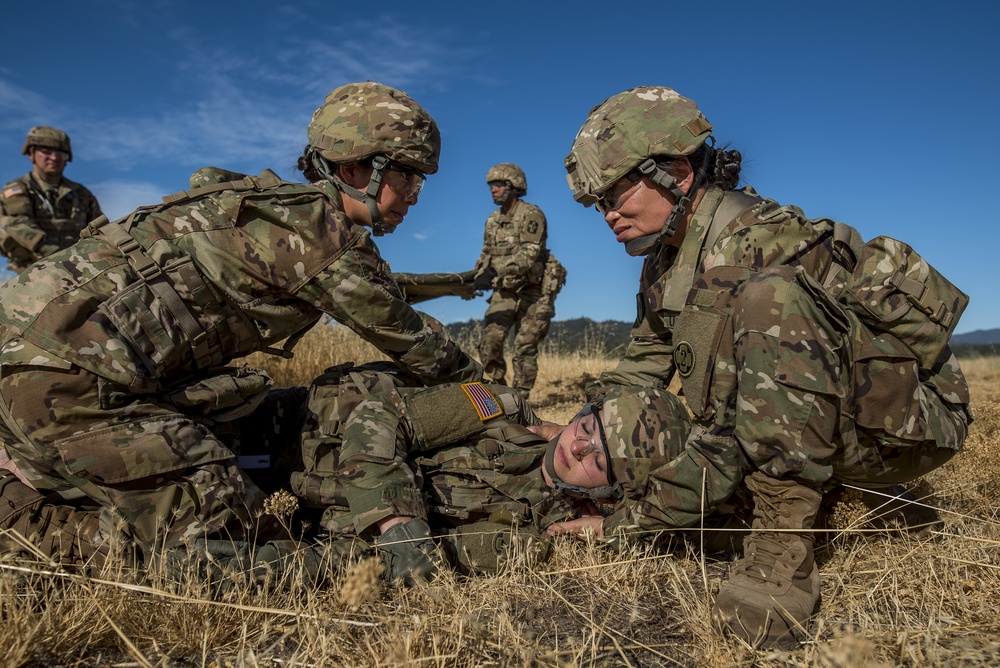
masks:
{"type": "Polygon", "coordinates": [[[712,124],[693,100],[664,86],[630,88],[590,110],[566,156],[573,198],[596,198],[646,158],[687,156],[705,143],[712,124]]]}

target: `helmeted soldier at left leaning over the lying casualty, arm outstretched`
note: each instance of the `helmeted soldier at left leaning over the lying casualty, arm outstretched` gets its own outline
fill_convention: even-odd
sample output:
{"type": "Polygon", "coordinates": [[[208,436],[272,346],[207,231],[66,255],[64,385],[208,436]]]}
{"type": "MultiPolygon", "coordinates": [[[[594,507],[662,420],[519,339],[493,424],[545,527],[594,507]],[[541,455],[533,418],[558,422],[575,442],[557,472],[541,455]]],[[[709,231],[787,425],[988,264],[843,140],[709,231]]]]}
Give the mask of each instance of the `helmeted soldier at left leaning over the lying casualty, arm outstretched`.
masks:
{"type": "Polygon", "coordinates": [[[371,238],[437,171],[434,120],[401,91],[349,84],[308,136],[309,184],[201,170],[196,182],[215,182],[102,217],[0,289],[0,426],[38,490],[0,478],[0,527],[61,526],[82,553],[70,558],[117,524],[143,550],[266,539],[264,495],[212,425],[250,413],[270,379],[226,365],[287,356],[324,313],[422,382],[482,377],[403,301],[371,238]],[[58,501],[74,520],[39,519],[58,501]]]}

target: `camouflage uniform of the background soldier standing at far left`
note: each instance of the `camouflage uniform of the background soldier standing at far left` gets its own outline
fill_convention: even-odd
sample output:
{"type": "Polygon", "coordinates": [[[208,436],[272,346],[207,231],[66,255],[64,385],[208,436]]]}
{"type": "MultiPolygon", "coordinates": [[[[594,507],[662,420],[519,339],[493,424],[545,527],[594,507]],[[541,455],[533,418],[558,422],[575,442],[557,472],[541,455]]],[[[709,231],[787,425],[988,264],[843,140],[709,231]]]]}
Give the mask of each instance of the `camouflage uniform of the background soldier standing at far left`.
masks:
{"type": "Polygon", "coordinates": [[[63,177],[50,186],[25,174],[0,191],[0,253],[7,267],[20,273],[38,258],[75,244],[100,215],[97,198],[79,183],[63,177]]]}

